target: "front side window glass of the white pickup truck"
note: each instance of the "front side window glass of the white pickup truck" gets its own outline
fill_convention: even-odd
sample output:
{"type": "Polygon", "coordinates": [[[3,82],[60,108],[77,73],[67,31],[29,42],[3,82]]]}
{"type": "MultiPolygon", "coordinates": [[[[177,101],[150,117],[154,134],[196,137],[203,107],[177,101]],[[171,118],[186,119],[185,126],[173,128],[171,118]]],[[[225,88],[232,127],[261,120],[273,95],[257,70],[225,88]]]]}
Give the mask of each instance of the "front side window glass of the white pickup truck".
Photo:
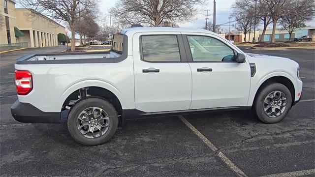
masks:
{"type": "Polygon", "coordinates": [[[234,51],[218,39],[187,36],[193,61],[235,62],[234,51]]]}

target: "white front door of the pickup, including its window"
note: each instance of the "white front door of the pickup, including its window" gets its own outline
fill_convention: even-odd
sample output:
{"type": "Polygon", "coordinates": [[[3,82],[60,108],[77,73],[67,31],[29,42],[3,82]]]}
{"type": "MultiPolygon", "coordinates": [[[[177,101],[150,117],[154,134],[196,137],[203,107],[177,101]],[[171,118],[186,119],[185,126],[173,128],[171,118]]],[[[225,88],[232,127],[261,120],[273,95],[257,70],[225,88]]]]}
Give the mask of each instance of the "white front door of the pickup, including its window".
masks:
{"type": "Polygon", "coordinates": [[[236,62],[236,50],[218,36],[187,34],[184,41],[191,55],[190,109],[246,106],[251,82],[249,62],[236,62]]]}

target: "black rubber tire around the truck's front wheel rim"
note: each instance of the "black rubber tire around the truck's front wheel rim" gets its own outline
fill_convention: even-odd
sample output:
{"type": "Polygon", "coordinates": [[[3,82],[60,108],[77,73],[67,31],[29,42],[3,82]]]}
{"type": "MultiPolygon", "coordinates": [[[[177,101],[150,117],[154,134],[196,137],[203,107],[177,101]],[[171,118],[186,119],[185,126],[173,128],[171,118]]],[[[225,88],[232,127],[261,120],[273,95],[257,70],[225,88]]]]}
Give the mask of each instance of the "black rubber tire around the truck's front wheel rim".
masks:
{"type": "Polygon", "coordinates": [[[260,89],[260,91],[257,93],[257,96],[253,104],[253,112],[264,123],[277,123],[286,117],[286,115],[291,109],[291,105],[292,105],[292,96],[291,96],[290,90],[287,87],[285,87],[283,84],[271,83],[265,86],[264,88],[260,89]],[[286,104],[285,104],[286,107],[284,109],[284,112],[275,118],[271,118],[267,116],[267,114],[264,111],[265,98],[273,91],[281,91],[284,93],[286,97],[286,104]]]}

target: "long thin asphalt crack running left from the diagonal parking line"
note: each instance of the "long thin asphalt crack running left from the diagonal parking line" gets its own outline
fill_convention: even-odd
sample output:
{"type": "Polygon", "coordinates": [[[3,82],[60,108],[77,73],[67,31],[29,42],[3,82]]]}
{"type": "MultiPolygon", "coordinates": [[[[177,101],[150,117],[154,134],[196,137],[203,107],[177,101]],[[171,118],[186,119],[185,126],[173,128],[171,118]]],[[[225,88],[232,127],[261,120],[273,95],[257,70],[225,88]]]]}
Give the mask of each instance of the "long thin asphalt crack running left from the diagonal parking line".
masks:
{"type": "MultiPolygon", "coordinates": [[[[219,152],[218,152],[219,153],[219,152]]],[[[176,161],[182,161],[182,160],[188,160],[188,159],[196,159],[199,157],[214,157],[216,156],[217,153],[211,153],[211,154],[205,154],[205,155],[198,155],[198,156],[193,156],[193,157],[183,157],[183,158],[178,158],[178,159],[172,159],[172,160],[165,160],[165,161],[157,161],[157,162],[148,162],[148,163],[143,163],[143,164],[139,164],[139,165],[125,165],[125,166],[118,166],[118,167],[111,167],[111,168],[106,168],[103,169],[101,171],[99,171],[98,173],[96,173],[94,175],[94,177],[100,177],[102,176],[105,172],[110,171],[110,170],[116,170],[116,169],[121,169],[121,168],[128,168],[128,167],[133,167],[133,168],[137,168],[137,167],[141,167],[141,166],[146,166],[146,165],[151,165],[151,164],[160,164],[160,163],[167,163],[167,162],[176,162],[176,161]]],[[[222,165],[222,164],[221,164],[222,165]]],[[[224,166],[224,165],[222,165],[224,166]]],[[[225,168],[225,166],[224,166],[225,168]]],[[[230,170],[230,169],[228,169],[230,170]]]]}

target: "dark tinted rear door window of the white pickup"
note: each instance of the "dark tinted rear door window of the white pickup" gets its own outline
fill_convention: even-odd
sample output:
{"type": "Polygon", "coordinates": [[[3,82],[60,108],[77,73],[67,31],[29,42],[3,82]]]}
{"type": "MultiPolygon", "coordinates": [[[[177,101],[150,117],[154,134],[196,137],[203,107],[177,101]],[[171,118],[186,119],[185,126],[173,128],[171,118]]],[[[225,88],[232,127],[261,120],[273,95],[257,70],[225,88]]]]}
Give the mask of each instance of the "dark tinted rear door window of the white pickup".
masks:
{"type": "Polygon", "coordinates": [[[146,61],[181,61],[176,35],[141,36],[146,61]]]}

